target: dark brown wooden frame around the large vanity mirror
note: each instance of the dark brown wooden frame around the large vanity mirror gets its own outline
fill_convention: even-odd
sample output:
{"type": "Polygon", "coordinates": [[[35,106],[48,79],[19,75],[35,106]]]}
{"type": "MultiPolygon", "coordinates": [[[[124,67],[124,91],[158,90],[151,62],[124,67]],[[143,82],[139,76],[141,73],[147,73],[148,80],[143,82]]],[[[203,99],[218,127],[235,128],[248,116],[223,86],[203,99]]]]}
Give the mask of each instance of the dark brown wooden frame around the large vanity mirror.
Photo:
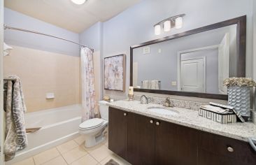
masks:
{"type": "MultiPolygon", "coordinates": [[[[130,86],[133,86],[133,50],[135,48],[140,48],[146,45],[152,45],[155,43],[162,43],[164,41],[173,40],[176,38],[190,36],[192,34],[198,34],[204,31],[209,31],[213,29],[218,29],[221,27],[227,27],[229,25],[236,24],[236,65],[237,77],[246,77],[246,15],[241,17],[236,17],[231,20],[225,20],[222,22],[218,22],[215,24],[210,24],[205,27],[199,27],[197,29],[192,29],[189,31],[184,31],[179,34],[173,34],[171,36],[166,36],[163,38],[155,39],[152,41],[148,41],[145,43],[140,43],[138,45],[132,45],[130,47],[130,86]]],[[[179,91],[169,91],[169,90],[159,90],[159,89],[141,89],[134,88],[135,92],[148,92],[148,93],[156,93],[156,94],[170,94],[176,96],[193,96],[200,97],[206,99],[221,99],[227,100],[227,94],[208,94],[208,93],[199,93],[199,92],[179,92],[179,91]]]]}

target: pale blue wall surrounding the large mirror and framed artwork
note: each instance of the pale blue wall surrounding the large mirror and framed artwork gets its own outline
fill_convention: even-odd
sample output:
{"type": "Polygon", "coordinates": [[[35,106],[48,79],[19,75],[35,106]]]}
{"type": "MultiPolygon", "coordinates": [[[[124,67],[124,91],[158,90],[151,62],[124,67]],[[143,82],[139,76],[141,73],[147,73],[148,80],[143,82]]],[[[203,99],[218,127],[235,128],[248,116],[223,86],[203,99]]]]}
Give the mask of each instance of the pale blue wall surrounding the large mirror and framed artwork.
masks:
{"type": "MultiPolygon", "coordinates": [[[[126,87],[129,86],[129,46],[163,36],[180,33],[208,24],[247,15],[246,75],[253,71],[252,0],[143,0],[103,24],[104,57],[127,54],[126,87]],[[153,25],[160,20],[185,13],[182,29],[155,36],[153,25]]],[[[113,98],[123,99],[127,94],[104,91],[113,98]]]]}

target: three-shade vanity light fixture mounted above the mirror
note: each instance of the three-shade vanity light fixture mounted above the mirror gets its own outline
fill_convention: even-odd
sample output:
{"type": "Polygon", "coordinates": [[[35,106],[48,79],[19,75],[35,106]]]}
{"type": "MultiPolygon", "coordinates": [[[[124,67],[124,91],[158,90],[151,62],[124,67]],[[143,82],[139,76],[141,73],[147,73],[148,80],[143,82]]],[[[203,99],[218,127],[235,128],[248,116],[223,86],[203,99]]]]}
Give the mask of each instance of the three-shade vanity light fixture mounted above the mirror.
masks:
{"type": "Polygon", "coordinates": [[[166,18],[154,25],[155,35],[161,34],[161,25],[163,26],[164,31],[170,31],[172,27],[180,29],[183,27],[183,17],[185,14],[175,15],[173,17],[166,18]]]}

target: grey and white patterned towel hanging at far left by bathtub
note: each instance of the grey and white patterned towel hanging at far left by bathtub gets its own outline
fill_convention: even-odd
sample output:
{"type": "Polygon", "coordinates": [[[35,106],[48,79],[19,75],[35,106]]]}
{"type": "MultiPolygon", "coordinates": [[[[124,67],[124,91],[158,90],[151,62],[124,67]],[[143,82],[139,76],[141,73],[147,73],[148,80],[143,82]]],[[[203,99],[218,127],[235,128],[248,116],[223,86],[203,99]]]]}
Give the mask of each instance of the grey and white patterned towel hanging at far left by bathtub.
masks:
{"type": "Polygon", "coordinates": [[[15,157],[15,152],[27,147],[27,134],[24,125],[24,113],[27,108],[24,103],[22,85],[20,78],[9,76],[15,79],[6,80],[6,94],[4,94],[4,108],[6,110],[6,140],[4,142],[5,160],[8,161],[15,157]]]}

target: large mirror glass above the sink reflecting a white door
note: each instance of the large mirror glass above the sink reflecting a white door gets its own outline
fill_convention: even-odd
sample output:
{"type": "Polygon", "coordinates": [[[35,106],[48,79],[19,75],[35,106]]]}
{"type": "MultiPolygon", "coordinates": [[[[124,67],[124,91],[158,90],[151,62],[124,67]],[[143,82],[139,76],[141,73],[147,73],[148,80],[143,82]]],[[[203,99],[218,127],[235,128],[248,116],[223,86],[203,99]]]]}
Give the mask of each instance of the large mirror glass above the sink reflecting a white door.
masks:
{"type": "Polygon", "coordinates": [[[236,24],[133,50],[133,86],[227,94],[236,76],[236,24]]]}

